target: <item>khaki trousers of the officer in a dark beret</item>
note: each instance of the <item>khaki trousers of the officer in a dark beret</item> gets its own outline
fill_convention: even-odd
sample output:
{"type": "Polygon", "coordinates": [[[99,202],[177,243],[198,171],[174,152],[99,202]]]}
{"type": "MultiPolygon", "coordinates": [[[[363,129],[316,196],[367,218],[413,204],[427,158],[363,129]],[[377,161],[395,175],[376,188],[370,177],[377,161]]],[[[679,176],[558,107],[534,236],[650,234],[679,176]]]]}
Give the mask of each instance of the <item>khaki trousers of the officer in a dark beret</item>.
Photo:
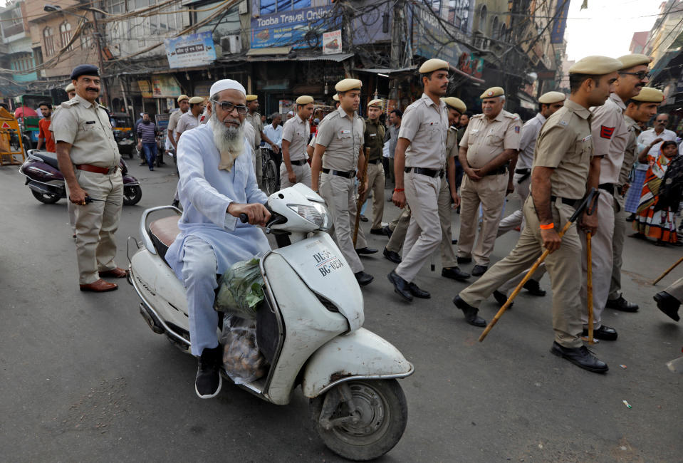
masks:
{"type": "Polygon", "coordinates": [[[100,279],[98,271],[116,268],[114,233],[118,229],[123,206],[123,177],[120,170],[112,175],[76,170],[75,175],[80,187],[90,197],[108,201],[74,205],[78,282],[90,284],[100,279]]]}

